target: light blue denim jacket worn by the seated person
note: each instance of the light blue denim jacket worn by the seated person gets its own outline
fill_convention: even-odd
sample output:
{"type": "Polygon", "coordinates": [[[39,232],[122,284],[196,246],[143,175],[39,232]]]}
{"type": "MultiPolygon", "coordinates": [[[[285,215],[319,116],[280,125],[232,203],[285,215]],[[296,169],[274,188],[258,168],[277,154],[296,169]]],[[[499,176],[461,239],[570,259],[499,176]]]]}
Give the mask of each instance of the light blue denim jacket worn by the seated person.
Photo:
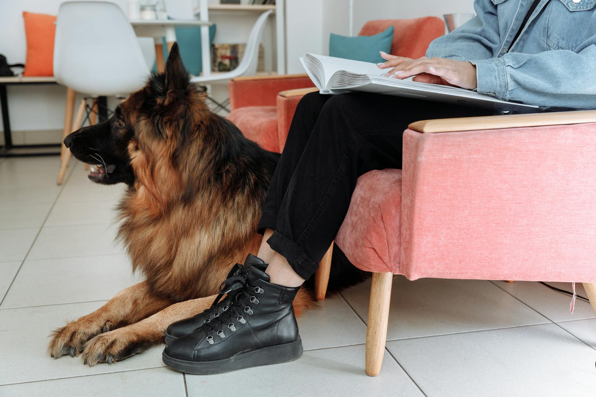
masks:
{"type": "Polygon", "coordinates": [[[542,108],[596,109],[596,0],[475,0],[477,16],[427,57],[476,65],[477,91],[542,108]]]}

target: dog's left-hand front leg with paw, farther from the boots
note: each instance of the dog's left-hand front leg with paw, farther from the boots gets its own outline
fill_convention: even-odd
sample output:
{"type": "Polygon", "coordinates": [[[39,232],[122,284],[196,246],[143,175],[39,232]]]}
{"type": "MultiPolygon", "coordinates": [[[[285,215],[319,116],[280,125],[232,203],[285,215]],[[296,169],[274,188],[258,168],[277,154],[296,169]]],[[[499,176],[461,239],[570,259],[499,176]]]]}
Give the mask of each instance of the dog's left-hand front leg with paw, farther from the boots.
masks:
{"type": "Polygon", "coordinates": [[[49,353],[54,358],[67,354],[75,357],[82,351],[85,342],[95,335],[135,323],[171,303],[151,293],[147,282],[123,289],[98,310],[55,330],[51,335],[49,353]]]}

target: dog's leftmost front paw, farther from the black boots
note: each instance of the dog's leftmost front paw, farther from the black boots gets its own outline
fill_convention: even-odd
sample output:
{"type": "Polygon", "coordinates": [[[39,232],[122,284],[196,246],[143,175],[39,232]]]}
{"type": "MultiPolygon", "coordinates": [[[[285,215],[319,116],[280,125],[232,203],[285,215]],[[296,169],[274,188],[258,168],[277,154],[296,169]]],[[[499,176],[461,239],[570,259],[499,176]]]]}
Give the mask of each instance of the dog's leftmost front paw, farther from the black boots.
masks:
{"type": "Polygon", "coordinates": [[[58,358],[63,355],[75,357],[83,351],[85,342],[102,332],[110,329],[110,322],[91,321],[80,318],[77,321],[66,324],[66,326],[54,330],[50,337],[48,350],[49,355],[58,358]]]}

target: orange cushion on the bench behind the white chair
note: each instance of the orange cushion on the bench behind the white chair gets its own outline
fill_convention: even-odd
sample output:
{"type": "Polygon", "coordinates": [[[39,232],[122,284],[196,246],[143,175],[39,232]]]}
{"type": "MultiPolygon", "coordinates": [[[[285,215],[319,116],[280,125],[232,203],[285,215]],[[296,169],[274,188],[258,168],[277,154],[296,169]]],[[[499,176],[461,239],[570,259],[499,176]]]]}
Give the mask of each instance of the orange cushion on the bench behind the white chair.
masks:
{"type": "Polygon", "coordinates": [[[23,76],[54,76],[55,15],[23,11],[27,60],[23,76]]]}

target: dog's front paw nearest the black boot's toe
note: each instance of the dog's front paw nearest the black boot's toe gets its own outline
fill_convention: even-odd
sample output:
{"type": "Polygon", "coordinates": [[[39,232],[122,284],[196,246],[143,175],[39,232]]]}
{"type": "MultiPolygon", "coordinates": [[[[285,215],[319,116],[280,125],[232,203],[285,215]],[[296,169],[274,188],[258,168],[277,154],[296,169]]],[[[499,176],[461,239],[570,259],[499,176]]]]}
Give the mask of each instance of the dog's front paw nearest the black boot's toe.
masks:
{"type": "Polygon", "coordinates": [[[85,344],[82,355],[83,363],[92,367],[98,362],[111,364],[122,361],[154,345],[156,343],[154,339],[154,337],[136,332],[131,326],[95,336],[85,344]]]}

